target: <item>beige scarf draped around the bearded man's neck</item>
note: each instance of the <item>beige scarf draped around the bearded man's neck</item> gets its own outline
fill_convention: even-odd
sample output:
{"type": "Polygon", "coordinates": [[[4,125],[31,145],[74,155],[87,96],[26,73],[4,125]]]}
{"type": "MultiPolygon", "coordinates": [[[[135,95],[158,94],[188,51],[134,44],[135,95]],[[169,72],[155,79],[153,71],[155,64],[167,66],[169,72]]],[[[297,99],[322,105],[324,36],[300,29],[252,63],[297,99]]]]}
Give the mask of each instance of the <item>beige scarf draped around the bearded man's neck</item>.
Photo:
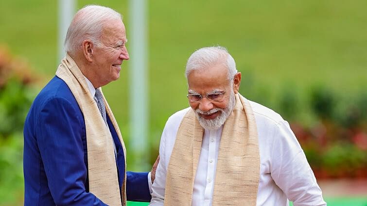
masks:
{"type": "MultiPolygon", "coordinates": [[[[204,129],[193,110],[178,128],[168,164],[165,206],[191,206],[204,129]]],[[[227,118],[219,146],[213,206],[256,206],[260,155],[255,116],[245,97],[227,118]]]]}

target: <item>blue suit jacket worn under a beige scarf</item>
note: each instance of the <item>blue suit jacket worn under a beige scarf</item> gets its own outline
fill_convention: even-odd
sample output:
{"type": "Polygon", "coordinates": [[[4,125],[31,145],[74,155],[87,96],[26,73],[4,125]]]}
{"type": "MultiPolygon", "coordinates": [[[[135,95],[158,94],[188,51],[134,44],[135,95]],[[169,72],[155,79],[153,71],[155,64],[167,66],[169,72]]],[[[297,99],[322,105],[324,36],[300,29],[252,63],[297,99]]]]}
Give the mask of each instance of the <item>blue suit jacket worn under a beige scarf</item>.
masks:
{"type": "MultiPolygon", "coordinates": [[[[116,144],[121,188],[125,158],[108,115],[107,124],[116,144]]],[[[27,115],[23,156],[25,206],[105,206],[88,192],[84,116],[69,87],[58,77],[37,95],[27,115]]],[[[150,201],[147,174],[127,172],[129,201],[150,201]]]]}

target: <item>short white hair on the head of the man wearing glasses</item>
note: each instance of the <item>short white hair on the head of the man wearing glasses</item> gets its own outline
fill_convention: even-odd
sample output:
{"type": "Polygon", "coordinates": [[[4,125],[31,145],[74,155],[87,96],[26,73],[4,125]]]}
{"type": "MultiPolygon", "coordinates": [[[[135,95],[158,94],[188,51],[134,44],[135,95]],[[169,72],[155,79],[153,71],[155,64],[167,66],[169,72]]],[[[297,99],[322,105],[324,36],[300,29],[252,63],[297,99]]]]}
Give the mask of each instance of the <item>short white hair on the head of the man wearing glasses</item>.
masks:
{"type": "Polygon", "coordinates": [[[192,53],[186,63],[185,76],[188,78],[193,70],[205,69],[218,63],[223,63],[228,69],[228,79],[233,79],[237,73],[233,57],[224,47],[204,47],[192,53]]]}

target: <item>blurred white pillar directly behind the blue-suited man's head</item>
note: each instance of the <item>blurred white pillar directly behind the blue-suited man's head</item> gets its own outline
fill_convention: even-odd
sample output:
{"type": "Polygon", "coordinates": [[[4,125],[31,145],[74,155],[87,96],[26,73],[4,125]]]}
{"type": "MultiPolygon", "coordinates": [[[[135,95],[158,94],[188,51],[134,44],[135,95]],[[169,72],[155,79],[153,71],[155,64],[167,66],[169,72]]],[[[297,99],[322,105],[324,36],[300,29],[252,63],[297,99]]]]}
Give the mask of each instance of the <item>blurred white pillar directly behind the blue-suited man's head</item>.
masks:
{"type": "Polygon", "coordinates": [[[75,13],[75,0],[58,0],[57,64],[65,57],[64,40],[75,13]]]}

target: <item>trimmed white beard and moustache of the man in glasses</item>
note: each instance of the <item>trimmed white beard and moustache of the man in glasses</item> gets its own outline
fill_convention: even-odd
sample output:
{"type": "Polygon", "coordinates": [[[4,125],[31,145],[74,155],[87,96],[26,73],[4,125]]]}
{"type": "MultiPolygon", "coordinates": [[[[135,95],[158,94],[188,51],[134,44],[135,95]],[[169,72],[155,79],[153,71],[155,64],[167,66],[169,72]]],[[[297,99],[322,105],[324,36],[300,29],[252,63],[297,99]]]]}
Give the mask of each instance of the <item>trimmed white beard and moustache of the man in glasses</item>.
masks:
{"type": "Polygon", "coordinates": [[[232,89],[230,97],[229,97],[228,105],[226,106],[225,109],[213,108],[210,111],[201,111],[200,109],[196,109],[195,115],[197,119],[199,120],[201,127],[203,127],[204,129],[215,130],[215,129],[218,129],[219,127],[222,127],[222,125],[226,122],[235,104],[236,104],[236,98],[234,96],[234,92],[232,89]],[[210,115],[217,111],[220,111],[220,114],[217,117],[215,117],[214,119],[204,119],[204,117],[199,115],[199,114],[210,115]]]}

